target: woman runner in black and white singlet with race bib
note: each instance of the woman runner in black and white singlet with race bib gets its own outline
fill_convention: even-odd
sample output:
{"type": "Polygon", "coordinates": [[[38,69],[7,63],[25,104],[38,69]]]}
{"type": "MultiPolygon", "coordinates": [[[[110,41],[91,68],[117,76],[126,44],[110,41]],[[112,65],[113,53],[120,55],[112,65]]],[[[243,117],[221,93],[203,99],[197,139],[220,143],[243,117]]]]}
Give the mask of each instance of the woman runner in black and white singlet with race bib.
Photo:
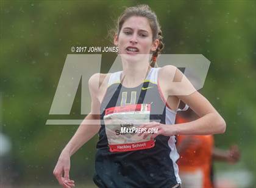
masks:
{"type": "Polygon", "coordinates": [[[91,112],[62,150],[54,175],[63,187],[74,187],[69,180],[70,157],[99,133],[93,177],[98,187],[180,187],[174,135],[224,133],[226,123],[176,67],[155,68],[163,49],[162,32],[148,5],[126,8],[118,19],[114,43],[123,71],[91,76],[91,112]],[[201,118],[174,124],[180,100],[201,118]],[[96,119],[103,123],[86,123],[96,119]],[[112,123],[104,123],[107,120],[112,123]],[[121,134],[122,127],[158,132],[121,134]]]}

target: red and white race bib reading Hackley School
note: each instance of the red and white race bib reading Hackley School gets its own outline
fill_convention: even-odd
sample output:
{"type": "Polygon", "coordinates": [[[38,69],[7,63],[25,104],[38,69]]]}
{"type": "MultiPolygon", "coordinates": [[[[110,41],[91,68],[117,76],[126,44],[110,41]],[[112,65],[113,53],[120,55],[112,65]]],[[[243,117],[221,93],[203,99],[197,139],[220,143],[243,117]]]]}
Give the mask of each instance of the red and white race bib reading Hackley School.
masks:
{"type": "Polygon", "coordinates": [[[149,149],[154,139],[138,136],[144,133],[142,124],[149,123],[151,104],[130,104],[105,109],[104,123],[110,152],[149,149]]]}

